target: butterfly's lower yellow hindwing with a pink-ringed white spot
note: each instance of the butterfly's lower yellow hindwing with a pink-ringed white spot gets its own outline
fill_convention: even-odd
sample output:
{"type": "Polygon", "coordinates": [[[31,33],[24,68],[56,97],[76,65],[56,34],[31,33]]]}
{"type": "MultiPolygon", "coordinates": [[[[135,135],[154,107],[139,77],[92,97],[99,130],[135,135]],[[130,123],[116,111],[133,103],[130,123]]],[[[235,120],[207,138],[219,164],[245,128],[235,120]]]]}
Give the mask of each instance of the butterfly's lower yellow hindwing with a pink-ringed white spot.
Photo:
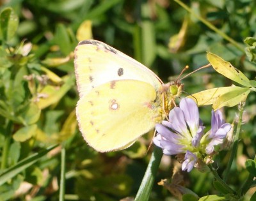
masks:
{"type": "Polygon", "coordinates": [[[93,88],[77,103],[83,137],[100,152],[124,149],[156,124],[154,87],[138,80],[113,80],[93,88]]]}

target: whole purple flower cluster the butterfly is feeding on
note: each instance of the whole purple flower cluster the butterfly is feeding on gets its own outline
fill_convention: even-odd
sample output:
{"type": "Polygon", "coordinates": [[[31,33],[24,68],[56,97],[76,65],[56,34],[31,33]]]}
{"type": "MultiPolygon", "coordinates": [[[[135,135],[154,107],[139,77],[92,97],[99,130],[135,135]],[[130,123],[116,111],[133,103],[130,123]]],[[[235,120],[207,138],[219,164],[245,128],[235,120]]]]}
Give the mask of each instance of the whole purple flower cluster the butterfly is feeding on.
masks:
{"type": "Polygon", "coordinates": [[[231,125],[216,110],[212,111],[211,130],[204,133],[204,129],[195,101],[183,98],[179,107],[170,111],[169,120],[156,125],[153,142],[166,155],[183,154],[182,170],[190,172],[200,158],[214,154],[215,146],[223,143],[231,125]]]}

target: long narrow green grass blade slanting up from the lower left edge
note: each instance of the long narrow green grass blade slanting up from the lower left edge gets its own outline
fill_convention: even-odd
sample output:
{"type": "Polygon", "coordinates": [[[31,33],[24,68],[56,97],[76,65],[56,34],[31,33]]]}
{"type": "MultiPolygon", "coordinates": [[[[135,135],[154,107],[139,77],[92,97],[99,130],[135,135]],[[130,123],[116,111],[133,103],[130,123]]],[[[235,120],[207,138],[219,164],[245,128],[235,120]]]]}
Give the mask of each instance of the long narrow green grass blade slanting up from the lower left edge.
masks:
{"type": "Polygon", "coordinates": [[[28,158],[25,158],[24,160],[19,161],[17,165],[14,165],[13,167],[10,167],[6,169],[1,175],[0,175],[0,186],[4,184],[9,179],[12,179],[15,177],[15,175],[19,174],[29,166],[33,165],[36,161],[40,160],[43,156],[45,156],[49,151],[57,147],[57,145],[51,146],[48,149],[45,149],[44,151],[40,151],[39,153],[35,153],[28,158]]]}

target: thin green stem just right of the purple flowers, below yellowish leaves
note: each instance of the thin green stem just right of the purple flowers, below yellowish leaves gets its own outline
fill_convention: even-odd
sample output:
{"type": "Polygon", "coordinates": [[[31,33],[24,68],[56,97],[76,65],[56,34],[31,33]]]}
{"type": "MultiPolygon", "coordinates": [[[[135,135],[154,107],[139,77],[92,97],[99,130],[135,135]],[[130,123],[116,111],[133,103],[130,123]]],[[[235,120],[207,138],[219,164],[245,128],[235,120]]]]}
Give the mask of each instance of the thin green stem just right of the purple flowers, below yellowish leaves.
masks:
{"type": "Polygon", "coordinates": [[[232,166],[232,163],[233,163],[235,155],[236,155],[238,142],[239,142],[239,135],[240,135],[242,121],[243,121],[242,117],[243,117],[243,112],[244,112],[244,103],[240,103],[238,108],[239,108],[239,119],[238,119],[238,123],[237,123],[237,127],[236,127],[236,135],[234,137],[234,144],[232,146],[232,150],[231,150],[231,154],[230,154],[230,157],[228,160],[227,168],[225,170],[225,175],[223,176],[224,181],[227,181],[227,179],[228,179],[228,176],[230,173],[230,168],[232,166]]]}

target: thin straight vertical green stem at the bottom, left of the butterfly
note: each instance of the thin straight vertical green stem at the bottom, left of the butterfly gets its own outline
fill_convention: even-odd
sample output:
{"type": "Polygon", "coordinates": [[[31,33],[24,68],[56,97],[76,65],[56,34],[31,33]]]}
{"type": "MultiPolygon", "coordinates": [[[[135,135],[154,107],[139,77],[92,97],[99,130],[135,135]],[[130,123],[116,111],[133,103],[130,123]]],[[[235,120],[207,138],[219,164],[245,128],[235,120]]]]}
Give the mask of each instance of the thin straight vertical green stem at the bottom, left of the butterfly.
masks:
{"type": "Polygon", "coordinates": [[[60,171],[60,197],[59,200],[65,200],[65,161],[66,161],[66,149],[65,143],[61,145],[61,171],[60,171]]]}

